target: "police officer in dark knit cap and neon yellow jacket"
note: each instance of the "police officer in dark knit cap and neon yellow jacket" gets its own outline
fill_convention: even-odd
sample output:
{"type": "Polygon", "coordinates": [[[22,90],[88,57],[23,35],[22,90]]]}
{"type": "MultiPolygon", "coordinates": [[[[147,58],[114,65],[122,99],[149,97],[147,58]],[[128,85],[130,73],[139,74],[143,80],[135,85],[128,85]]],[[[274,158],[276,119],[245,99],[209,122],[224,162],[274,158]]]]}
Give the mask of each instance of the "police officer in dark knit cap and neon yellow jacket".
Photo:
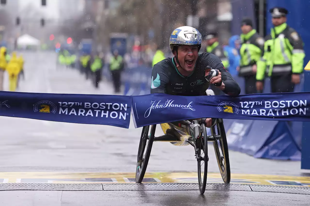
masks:
{"type": "MultiPolygon", "coordinates": [[[[256,71],[257,61],[262,56],[264,49],[264,39],[259,36],[250,18],[244,18],[241,22],[241,48],[240,48],[240,69],[239,76],[245,80],[246,94],[255,94],[256,91],[256,71]]],[[[262,91],[259,91],[261,93],[262,91]]]]}

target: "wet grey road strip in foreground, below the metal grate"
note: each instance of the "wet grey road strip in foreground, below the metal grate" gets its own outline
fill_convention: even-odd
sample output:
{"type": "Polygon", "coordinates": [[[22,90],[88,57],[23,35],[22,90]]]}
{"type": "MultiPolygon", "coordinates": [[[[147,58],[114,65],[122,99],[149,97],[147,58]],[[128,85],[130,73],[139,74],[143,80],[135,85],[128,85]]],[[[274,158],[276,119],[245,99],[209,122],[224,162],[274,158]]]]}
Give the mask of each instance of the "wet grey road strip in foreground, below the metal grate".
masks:
{"type": "Polygon", "coordinates": [[[2,205],[99,206],[99,205],[309,205],[309,195],[251,191],[2,191],[2,205]],[[291,203],[291,204],[288,204],[291,203]]]}

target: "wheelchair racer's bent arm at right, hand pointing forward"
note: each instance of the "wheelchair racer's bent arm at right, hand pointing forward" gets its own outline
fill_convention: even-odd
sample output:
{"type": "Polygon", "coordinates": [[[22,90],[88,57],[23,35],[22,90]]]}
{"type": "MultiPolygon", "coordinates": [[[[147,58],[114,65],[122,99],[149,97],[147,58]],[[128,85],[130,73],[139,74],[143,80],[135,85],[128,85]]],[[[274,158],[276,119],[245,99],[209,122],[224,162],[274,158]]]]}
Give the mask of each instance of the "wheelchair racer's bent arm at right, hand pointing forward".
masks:
{"type": "MultiPolygon", "coordinates": [[[[222,81],[222,85],[218,88],[225,94],[230,96],[238,96],[241,92],[239,84],[232,78],[232,75],[224,68],[221,60],[214,54],[207,54],[207,58],[203,61],[203,66],[210,66],[212,69],[219,70],[219,75],[210,80],[210,84],[222,81]],[[219,80],[218,80],[219,79],[219,80]],[[221,79],[221,80],[220,80],[221,79]]],[[[203,58],[203,57],[202,57],[203,58]]],[[[205,68],[206,68],[205,67],[205,68]]]]}

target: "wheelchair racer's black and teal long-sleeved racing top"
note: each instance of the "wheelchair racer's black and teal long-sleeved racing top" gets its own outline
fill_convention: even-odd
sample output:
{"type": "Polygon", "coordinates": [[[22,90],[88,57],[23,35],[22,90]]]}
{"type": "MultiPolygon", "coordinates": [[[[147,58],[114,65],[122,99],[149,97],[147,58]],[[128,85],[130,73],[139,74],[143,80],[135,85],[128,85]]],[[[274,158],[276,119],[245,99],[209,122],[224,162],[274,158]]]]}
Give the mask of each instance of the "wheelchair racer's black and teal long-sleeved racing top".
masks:
{"type": "Polygon", "coordinates": [[[239,84],[224,68],[221,60],[208,52],[198,54],[193,73],[189,76],[180,74],[176,67],[175,57],[166,58],[154,65],[152,70],[151,93],[166,93],[179,96],[203,96],[209,88],[209,82],[205,78],[207,67],[221,72],[222,81],[225,84],[223,92],[230,96],[240,94],[239,84]]]}

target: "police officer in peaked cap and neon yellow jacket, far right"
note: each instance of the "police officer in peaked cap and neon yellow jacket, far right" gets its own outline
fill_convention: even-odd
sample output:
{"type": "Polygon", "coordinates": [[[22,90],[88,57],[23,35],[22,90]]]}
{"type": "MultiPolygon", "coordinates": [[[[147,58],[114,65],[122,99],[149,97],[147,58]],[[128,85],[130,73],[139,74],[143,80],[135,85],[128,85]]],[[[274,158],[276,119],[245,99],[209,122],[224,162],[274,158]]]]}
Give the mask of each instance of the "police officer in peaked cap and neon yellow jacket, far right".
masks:
{"type": "Polygon", "coordinates": [[[263,57],[257,67],[256,88],[263,89],[266,72],[271,77],[272,93],[294,92],[294,86],[299,84],[300,74],[303,72],[303,41],[286,24],[288,11],[285,8],[275,7],[269,12],[274,28],[271,28],[271,33],[265,38],[263,57]]]}

